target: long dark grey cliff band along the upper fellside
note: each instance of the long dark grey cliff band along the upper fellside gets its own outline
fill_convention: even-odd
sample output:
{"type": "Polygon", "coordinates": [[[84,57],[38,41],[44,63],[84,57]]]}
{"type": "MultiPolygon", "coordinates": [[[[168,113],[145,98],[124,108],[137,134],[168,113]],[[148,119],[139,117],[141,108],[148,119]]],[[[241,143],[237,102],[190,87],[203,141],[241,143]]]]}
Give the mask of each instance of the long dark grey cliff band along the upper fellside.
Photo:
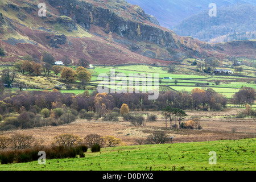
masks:
{"type": "MultiPolygon", "coordinates": [[[[119,15],[113,9],[93,6],[92,3],[86,1],[71,0],[63,2],[62,0],[47,0],[47,2],[56,7],[61,15],[71,17],[77,24],[88,30],[92,25],[99,26],[105,30],[108,25],[109,31],[129,40],[147,41],[160,45],[163,39],[162,41],[166,43],[166,47],[177,48],[171,31],[163,31],[160,27],[142,23],[143,20],[152,22],[153,18],[148,20],[148,15],[141,8],[137,7],[135,9],[137,14],[132,16],[137,18],[129,19],[119,15]]],[[[129,8],[129,5],[122,8],[129,8]]]]}

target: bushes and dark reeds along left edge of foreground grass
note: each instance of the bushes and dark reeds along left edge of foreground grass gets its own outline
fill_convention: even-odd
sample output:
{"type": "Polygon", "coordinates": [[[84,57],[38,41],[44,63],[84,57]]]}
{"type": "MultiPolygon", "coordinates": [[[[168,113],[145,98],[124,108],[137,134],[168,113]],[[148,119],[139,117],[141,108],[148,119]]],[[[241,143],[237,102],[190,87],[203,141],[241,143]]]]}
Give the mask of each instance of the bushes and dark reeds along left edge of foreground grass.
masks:
{"type": "MultiPolygon", "coordinates": [[[[51,147],[36,142],[32,135],[14,134],[11,137],[0,137],[0,163],[25,163],[39,159],[40,152],[46,152],[46,159],[84,158],[88,147],[79,143],[79,137],[72,134],[58,135],[51,147]],[[58,143],[59,142],[59,143],[58,143]],[[63,145],[63,142],[68,144],[63,145]],[[5,150],[10,147],[13,150],[5,150]]],[[[41,153],[42,154],[42,153],[41,153]]],[[[44,161],[45,162],[45,161],[44,161]]]]}

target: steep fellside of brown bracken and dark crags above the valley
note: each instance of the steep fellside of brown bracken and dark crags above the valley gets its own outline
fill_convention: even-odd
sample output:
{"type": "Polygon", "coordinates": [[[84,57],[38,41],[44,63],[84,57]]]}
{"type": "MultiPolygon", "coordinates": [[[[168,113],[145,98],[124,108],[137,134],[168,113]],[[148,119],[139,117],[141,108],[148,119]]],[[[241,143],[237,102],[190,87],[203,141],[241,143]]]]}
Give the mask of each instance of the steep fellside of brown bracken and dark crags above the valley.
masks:
{"type": "MultiPolygon", "coordinates": [[[[56,60],[67,55],[73,63],[84,57],[92,64],[171,63],[185,57],[233,56],[229,55],[233,47],[177,36],[158,26],[141,7],[124,0],[46,0],[46,17],[39,17],[41,2],[1,1],[0,44],[6,52],[2,64],[26,54],[40,60],[43,51],[52,53],[56,60]]],[[[245,53],[236,54],[241,55],[245,53]]]]}

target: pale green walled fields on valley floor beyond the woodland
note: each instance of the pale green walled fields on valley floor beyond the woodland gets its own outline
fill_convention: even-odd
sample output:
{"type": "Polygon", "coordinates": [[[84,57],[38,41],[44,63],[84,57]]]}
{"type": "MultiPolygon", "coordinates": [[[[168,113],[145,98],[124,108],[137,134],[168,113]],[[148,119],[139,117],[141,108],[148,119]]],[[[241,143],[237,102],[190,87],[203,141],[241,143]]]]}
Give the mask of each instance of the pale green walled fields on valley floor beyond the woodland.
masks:
{"type": "MultiPolygon", "coordinates": [[[[194,88],[212,88],[218,93],[225,95],[228,98],[232,98],[232,96],[239,91],[243,86],[256,88],[253,83],[253,79],[251,79],[250,83],[244,82],[243,77],[233,77],[230,75],[227,76],[210,76],[207,74],[202,75],[201,73],[190,71],[189,74],[180,74],[180,72],[168,73],[164,67],[152,67],[148,65],[127,65],[127,66],[118,66],[118,67],[95,67],[92,71],[92,81],[91,84],[97,85],[99,81],[97,80],[97,76],[100,73],[106,73],[110,77],[110,70],[115,69],[115,75],[118,73],[124,73],[128,76],[130,73],[133,74],[142,74],[145,73],[146,76],[148,73],[151,73],[154,77],[155,73],[158,73],[159,79],[161,80],[164,77],[171,77],[172,80],[163,80],[159,84],[159,86],[170,86],[170,88],[175,89],[177,91],[185,90],[185,92],[191,92],[194,88]],[[215,84],[216,80],[220,80],[221,83],[219,85],[215,84]],[[175,81],[177,81],[175,83],[175,81]],[[196,86],[196,84],[208,84],[206,86],[196,86]]],[[[184,68],[185,69],[185,68],[184,68]]],[[[120,79],[116,77],[116,79],[120,79]]],[[[115,84],[119,81],[115,80],[115,84]]],[[[154,82],[153,82],[154,85],[154,82]]],[[[113,89],[113,88],[112,88],[113,89]]],[[[140,88],[142,90],[142,87],[140,88]]]]}

